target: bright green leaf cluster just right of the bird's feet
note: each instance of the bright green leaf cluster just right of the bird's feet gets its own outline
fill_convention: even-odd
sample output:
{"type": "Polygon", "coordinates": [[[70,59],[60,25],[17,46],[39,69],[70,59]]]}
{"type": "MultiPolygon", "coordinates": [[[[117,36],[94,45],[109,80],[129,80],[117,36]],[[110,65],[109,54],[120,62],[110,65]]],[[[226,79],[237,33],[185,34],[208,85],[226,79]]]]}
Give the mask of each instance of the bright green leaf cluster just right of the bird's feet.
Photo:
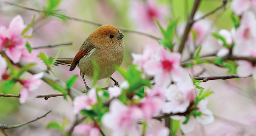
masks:
{"type": "Polygon", "coordinates": [[[128,92],[134,92],[144,85],[151,87],[151,83],[149,79],[143,79],[141,77],[142,72],[137,69],[136,65],[130,65],[128,70],[123,68],[118,68],[119,73],[124,76],[124,79],[129,83],[128,92]]]}

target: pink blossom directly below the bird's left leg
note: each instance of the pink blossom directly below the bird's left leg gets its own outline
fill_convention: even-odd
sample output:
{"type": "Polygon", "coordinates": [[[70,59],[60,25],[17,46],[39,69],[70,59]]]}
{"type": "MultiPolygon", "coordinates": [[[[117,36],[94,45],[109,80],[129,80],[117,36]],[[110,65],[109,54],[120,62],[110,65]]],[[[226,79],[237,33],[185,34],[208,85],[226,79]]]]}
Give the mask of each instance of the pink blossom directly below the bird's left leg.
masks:
{"type": "Polygon", "coordinates": [[[97,104],[96,89],[91,88],[88,95],[80,95],[74,98],[74,114],[80,113],[81,110],[92,110],[91,104],[97,104]]]}

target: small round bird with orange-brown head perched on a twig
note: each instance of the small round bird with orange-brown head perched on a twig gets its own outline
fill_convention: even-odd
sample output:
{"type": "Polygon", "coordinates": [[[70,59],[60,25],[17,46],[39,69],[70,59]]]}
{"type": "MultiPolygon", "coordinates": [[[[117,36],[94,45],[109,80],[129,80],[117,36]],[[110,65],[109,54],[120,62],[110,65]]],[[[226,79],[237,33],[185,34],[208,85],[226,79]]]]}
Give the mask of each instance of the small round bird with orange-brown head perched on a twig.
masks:
{"type": "Polygon", "coordinates": [[[110,77],[115,85],[119,86],[111,75],[116,71],[115,67],[121,65],[123,59],[124,34],[115,26],[102,25],[88,36],[74,58],[58,58],[53,66],[70,64],[69,71],[72,71],[78,65],[85,88],[90,90],[84,76],[93,78],[93,60],[100,68],[99,80],[110,77]]]}

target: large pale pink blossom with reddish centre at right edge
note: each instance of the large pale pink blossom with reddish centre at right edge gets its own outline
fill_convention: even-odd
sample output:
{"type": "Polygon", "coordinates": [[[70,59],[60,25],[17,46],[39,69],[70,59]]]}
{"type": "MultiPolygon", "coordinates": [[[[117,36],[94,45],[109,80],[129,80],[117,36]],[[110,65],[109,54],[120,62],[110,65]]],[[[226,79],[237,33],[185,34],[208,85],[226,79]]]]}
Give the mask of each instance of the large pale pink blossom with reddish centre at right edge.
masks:
{"type": "Polygon", "coordinates": [[[236,56],[253,56],[256,54],[256,19],[252,12],[246,12],[234,34],[233,54],[236,56]]]}

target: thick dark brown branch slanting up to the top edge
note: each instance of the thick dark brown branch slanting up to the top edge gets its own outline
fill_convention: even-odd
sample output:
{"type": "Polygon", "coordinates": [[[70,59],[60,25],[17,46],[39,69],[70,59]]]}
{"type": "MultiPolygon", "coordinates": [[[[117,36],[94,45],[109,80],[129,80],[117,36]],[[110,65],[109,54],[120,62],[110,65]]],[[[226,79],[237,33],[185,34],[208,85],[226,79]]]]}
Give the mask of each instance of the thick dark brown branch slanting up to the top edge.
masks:
{"type": "Polygon", "coordinates": [[[194,18],[195,12],[197,11],[197,8],[198,8],[200,2],[201,2],[201,0],[195,0],[194,1],[193,8],[192,8],[191,13],[190,13],[190,15],[188,17],[188,22],[186,24],[186,28],[185,28],[185,30],[183,32],[182,39],[180,41],[180,46],[178,48],[178,52],[179,53],[182,53],[182,51],[183,51],[183,48],[185,46],[185,42],[186,42],[186,40],[188,38],[188,33],[189,33],[190,29],[191,29],[191,26],[194,23],[193,18],[194,18]]]}

